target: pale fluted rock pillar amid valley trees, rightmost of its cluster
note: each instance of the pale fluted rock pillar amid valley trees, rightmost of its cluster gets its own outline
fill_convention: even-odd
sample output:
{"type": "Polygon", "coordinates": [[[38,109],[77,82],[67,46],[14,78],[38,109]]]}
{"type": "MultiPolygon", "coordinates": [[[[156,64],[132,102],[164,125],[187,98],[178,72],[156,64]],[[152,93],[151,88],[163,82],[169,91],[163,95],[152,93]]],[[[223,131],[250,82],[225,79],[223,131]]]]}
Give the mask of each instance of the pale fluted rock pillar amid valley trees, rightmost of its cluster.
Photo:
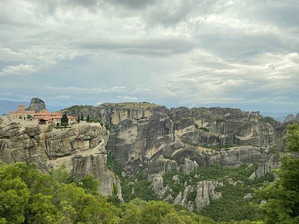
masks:
{"type": "Polygon", "coordinates": [[[215,192],[215,188],[218,186],[223,186],[223,183],[218,181],[200,181],[197,183],[195,205],[198,212],[204,207],[209,206],[211,200],[221,197],[220,192],[215,192]]]}

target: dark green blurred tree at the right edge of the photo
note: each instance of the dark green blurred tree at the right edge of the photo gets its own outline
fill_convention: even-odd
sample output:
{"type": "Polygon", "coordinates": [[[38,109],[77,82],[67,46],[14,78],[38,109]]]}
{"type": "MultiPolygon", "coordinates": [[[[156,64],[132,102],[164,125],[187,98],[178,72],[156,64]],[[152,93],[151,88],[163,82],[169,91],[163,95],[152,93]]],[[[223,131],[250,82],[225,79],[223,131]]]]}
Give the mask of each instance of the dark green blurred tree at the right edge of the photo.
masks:
{"type": "MultiPolygon", "coordinates": [[[[288,126],[288,147],[290,153],[299,152],[299,125],[288,126]]],[[[259,211],[266,223],[299,223],[299,158],[291,155],[281,157],[278,178],[256,192],[266,203],[259,205],[259,211]]]]}

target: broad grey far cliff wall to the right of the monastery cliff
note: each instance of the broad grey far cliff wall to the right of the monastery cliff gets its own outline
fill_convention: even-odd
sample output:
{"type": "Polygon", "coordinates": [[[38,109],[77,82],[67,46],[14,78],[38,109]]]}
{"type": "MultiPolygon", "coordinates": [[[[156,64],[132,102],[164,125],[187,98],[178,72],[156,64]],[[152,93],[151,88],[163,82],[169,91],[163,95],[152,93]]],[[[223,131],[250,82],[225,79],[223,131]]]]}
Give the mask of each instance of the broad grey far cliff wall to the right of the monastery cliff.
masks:
{"type": "Polygon", "coordinates": [[[238,166],[260,160],[263,148],[285,147],[286,125],[262,118],[259,112],[185,107],[168,111],[152,105],[136,109],[128,103],[126,109],[111,104],[102,107],[105,120],[114,124],[106,149],[124,168],[123,175],[134,175],[145,163],[149,180],[169,169],[188,173],[194,166],[238,166]],[[140,110],[146,118],[137,118],[140,110]],[[237,147],[208,153],[192,144],[237,147]]]}

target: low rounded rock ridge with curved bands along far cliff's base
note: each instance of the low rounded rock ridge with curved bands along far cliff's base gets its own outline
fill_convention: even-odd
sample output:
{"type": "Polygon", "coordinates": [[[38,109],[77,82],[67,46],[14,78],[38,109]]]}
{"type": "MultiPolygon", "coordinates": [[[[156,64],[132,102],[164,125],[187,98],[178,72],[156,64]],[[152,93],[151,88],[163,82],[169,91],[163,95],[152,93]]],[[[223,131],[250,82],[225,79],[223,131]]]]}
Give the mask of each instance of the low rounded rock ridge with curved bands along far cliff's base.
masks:
{"type": "Polygon", "coordinates": [[[198,167],[209,167],[213,164],[239,166],[241,163],[259,161],[263,154],[263,149],[252,145],[235,146],[213,152],[206,152],[203,149],[182,142],[173,142],[152,156],[145,174],[152,180],[155,175],[162,175],[172,169],[189,174],[198,167]]]}

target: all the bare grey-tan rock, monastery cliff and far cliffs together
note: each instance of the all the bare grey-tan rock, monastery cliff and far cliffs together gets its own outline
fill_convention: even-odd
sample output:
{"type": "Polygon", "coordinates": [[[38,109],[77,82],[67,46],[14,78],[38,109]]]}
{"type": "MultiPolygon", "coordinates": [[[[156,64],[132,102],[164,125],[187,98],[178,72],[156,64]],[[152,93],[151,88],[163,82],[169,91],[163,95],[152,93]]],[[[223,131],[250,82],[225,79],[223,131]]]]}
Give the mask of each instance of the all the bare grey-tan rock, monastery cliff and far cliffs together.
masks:
{"type": "MultiPolygon", "coordinates": [[[[99,192],[104,195],[112,194],[117,184],[121,198],[119,178],[106,164],[107,153],[111,153],[123,168],[123,176],[134,176],[142,170],[159,199],[190,211],[200,211],[210,200],[219,198],[221,194],[214,190],[222,183],[180,183],[184,191],[174,196],[168,186],[163,186],[161,175],[171,170],[189,174],[213,164],[236,167],[260,161],[251,178],[263,176],[279,167],[279,152],[286,148],[287,125],[296,122],[282,124],[259,112],[232,108],[168,110],[146,102],[73,106],[62,112],[101,118],[110,125],[110,132],[100,123],[53,130],[51,126],[23,127],[1,120],[0,159],[5,163],[33,161],[43,172],[66,164],[78,181],[88,173],[94,174],[100,179],[99,192]],[[187,194],[195,191],[196,200],[188,201],[187,194]]],[[[178,177],[173,178],[179,183],[178,177]]]]}

